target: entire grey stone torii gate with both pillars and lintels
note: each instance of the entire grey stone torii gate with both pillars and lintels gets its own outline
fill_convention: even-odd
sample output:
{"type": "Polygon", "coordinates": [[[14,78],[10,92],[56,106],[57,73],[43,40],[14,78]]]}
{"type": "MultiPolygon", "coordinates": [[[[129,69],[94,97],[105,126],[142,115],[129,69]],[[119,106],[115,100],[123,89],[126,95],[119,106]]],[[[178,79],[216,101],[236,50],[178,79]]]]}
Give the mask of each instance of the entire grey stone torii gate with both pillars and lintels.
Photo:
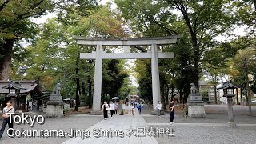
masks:
{"type": "Polygon", "coordinates": [[[80,53],[81,59],[95,59],[93,107],[90,114],[98,113],[101,108],[102,59],[151,59],[153,106],[161,101],[158,58],[174,58],[173,52],[158,51],[158,45],[170,45],[177,42],[179,35],[155,38],[86,38],[73,37],[78,45],[97,46],[96,52],[80,53]],[[124,53],[106,53],[103,46],[123,46],[124,53]],[[130,46],[151,46],[146,53],[130,53],[130,46]]]}

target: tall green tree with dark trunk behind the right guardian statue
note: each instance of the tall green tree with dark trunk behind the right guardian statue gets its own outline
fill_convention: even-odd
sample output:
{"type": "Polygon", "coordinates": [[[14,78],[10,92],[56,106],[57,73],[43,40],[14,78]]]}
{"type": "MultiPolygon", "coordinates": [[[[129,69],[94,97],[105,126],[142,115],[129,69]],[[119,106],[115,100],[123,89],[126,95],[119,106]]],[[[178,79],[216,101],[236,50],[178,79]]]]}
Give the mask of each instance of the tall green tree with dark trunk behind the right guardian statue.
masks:
{"type": "Polygon", "coordinates": [[[230,9],[230,1],[114,1],[126,18],[134,36],[166,36],[181,34],[175,51],[181,74],[176,83],[186,101],[190,82],[198,86],[202,74],[201,60],[214,38],[234,28],[237,19],[230,9]],[[184,79],[182,81],[182,78],[184,79]],[[185,83],[183,83],[185,82],[185,83]],[[184,90],[184,91],[183,91],[184,90]]]}

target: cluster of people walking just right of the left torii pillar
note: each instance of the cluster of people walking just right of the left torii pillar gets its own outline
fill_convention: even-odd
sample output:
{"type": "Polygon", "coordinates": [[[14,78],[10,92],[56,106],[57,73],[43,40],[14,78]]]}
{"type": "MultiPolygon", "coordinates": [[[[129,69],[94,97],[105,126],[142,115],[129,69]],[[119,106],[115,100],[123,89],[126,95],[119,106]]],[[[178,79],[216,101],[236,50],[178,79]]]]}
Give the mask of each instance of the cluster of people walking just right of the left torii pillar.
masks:
{"type": "Polygon", "coordinates": [[[117,102],[112,102],[111,101],[110,104],[108,104],[105,101],[102,105],[102,111],[103,111],[104,120],[106,120],[106,118],[108,118],[108,111],[110,111],[111,117],[113,116],[113,114],[118,114],[118,104],[117,104],[117,102]]]}

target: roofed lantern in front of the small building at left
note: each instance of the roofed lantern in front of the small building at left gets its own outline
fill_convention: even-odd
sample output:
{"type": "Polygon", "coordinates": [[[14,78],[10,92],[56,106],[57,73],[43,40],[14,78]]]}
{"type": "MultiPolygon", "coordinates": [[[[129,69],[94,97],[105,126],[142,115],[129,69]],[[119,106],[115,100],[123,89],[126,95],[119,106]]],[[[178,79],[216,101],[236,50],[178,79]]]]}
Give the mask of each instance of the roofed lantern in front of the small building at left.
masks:
{"type": "Polygon", "coordinates": [[[26,90],[21,86],[19,82],[13,82],[13,81],[10,81],[7,86],[3,86],[2,89],[9,89],[9,94],[7,95],[7,97],[10,97],[12,106],[14,106],[14,109],[16,108],[16,98],[18,97],[20,90],[22,89],[26,90]]]}

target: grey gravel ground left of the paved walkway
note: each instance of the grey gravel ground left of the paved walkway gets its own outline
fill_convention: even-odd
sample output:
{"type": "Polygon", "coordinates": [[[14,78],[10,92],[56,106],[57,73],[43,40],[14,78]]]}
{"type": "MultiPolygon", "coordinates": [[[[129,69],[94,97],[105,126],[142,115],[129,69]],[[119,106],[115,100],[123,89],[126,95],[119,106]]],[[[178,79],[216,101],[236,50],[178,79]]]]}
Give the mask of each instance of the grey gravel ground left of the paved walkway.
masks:
{"type": "MultiPolygon", "coordinates": [[[[14,130],[64,130],[65,132],[70,133],[71,129],[76,130],[86,130],[90,126],[93,126],[97,122],[102,120],[102,116],[90,116],[89,114],[70,114],[64,118],[46,118],[43,125],[35,124],[31,128],[28,124],[14,125],[14,130]]],[[[2,120],[0,120],[2,126],[2,120]]],[[[8,126],[6,126],[6,130],[8,126]]],[[[66,135],[66,138],[8,138],[6,131],[0,139],[0,143],[34,143],[34,144],[56,144],[65,142],[69,139],[66,135]]]]}

